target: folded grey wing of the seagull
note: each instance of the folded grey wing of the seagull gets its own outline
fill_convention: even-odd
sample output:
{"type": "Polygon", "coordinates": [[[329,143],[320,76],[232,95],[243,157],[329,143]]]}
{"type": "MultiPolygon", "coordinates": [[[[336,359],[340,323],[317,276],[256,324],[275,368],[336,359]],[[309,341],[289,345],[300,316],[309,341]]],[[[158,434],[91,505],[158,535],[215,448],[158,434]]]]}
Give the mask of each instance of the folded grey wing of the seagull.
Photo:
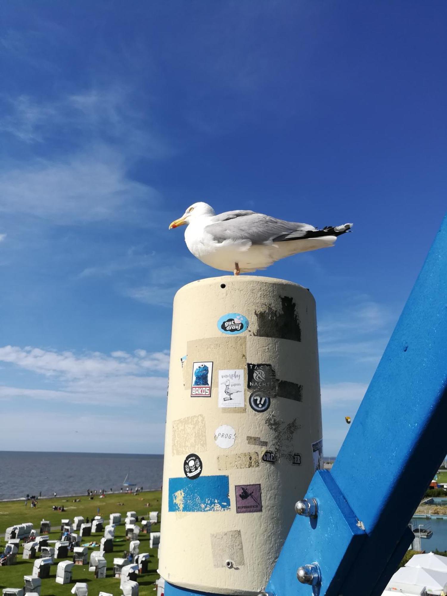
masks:
{"type": "Polygon", "coordinates": [[[279,242],[290,234],[296,235],[298,240],[307,231],[316,229],[308,224],[286,222],[253,211],[228,211],[212,219],[213,223],[207,225],[205,231],[217,242],[250,240],[252,244],[269,244],[279,242]]]}

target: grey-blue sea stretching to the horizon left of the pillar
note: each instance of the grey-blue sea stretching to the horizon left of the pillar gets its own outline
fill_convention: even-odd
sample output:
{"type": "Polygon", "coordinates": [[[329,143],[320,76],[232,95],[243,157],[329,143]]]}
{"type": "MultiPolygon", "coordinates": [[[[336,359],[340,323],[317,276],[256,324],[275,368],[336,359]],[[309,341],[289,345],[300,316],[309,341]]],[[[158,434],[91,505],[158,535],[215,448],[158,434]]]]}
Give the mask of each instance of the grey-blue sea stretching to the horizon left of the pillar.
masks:
{"type": "Polygon", "coordinates": [[[0,451],[0,499],[119,492],[128,473],[139,488],[160,489],[163,455],[0,451]]]}

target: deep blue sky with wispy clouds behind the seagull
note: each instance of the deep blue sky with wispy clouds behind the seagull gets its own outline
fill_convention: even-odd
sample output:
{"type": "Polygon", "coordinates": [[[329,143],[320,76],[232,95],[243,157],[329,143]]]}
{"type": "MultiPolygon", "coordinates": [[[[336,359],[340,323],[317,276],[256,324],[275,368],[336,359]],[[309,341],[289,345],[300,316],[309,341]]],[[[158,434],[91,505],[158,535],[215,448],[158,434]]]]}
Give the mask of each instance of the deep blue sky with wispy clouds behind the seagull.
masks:
{"type": "Polygon", "coordinates": [[[167,226],[203,200],[354,222],[267,272],[315,296],[335,455],[445,212],[446,17],[443,0],[6,2],[0,449],[162,452],[172,297],[219,275],[167,226]]]}

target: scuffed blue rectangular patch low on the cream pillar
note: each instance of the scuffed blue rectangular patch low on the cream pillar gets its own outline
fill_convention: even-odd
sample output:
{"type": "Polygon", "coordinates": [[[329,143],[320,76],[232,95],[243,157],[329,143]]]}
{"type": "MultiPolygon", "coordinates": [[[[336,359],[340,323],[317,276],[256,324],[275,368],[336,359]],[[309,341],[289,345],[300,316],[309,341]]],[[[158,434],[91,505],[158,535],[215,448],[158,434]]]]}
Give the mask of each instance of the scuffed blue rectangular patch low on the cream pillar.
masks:
{"type": "Polygon", "coordinates": [[[169,479],[169,511],[223,511],[229,509],[228,476],[169,479]]]}

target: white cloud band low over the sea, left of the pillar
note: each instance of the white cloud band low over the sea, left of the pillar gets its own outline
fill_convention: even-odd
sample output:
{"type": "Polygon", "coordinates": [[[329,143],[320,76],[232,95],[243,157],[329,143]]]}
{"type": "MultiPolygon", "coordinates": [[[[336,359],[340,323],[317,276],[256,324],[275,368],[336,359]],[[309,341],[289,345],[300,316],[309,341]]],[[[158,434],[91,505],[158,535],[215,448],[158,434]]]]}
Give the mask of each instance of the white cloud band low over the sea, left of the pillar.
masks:
{"type": "Polygon", "coordinates": [[[42,377],[39,388],[0,386],[2,398],[31,398],[73,403],[122,405],[166,395],[169,353],[118,350],[76,355],[37,347],[4,346],[0,362],[42,377]],[[46,381],[45,381],[46,380],[46,381]],[[48,387],[51,381],[51,387],[48,387]],[[42,387],[43,385],[43,387],[42,387]]]}

